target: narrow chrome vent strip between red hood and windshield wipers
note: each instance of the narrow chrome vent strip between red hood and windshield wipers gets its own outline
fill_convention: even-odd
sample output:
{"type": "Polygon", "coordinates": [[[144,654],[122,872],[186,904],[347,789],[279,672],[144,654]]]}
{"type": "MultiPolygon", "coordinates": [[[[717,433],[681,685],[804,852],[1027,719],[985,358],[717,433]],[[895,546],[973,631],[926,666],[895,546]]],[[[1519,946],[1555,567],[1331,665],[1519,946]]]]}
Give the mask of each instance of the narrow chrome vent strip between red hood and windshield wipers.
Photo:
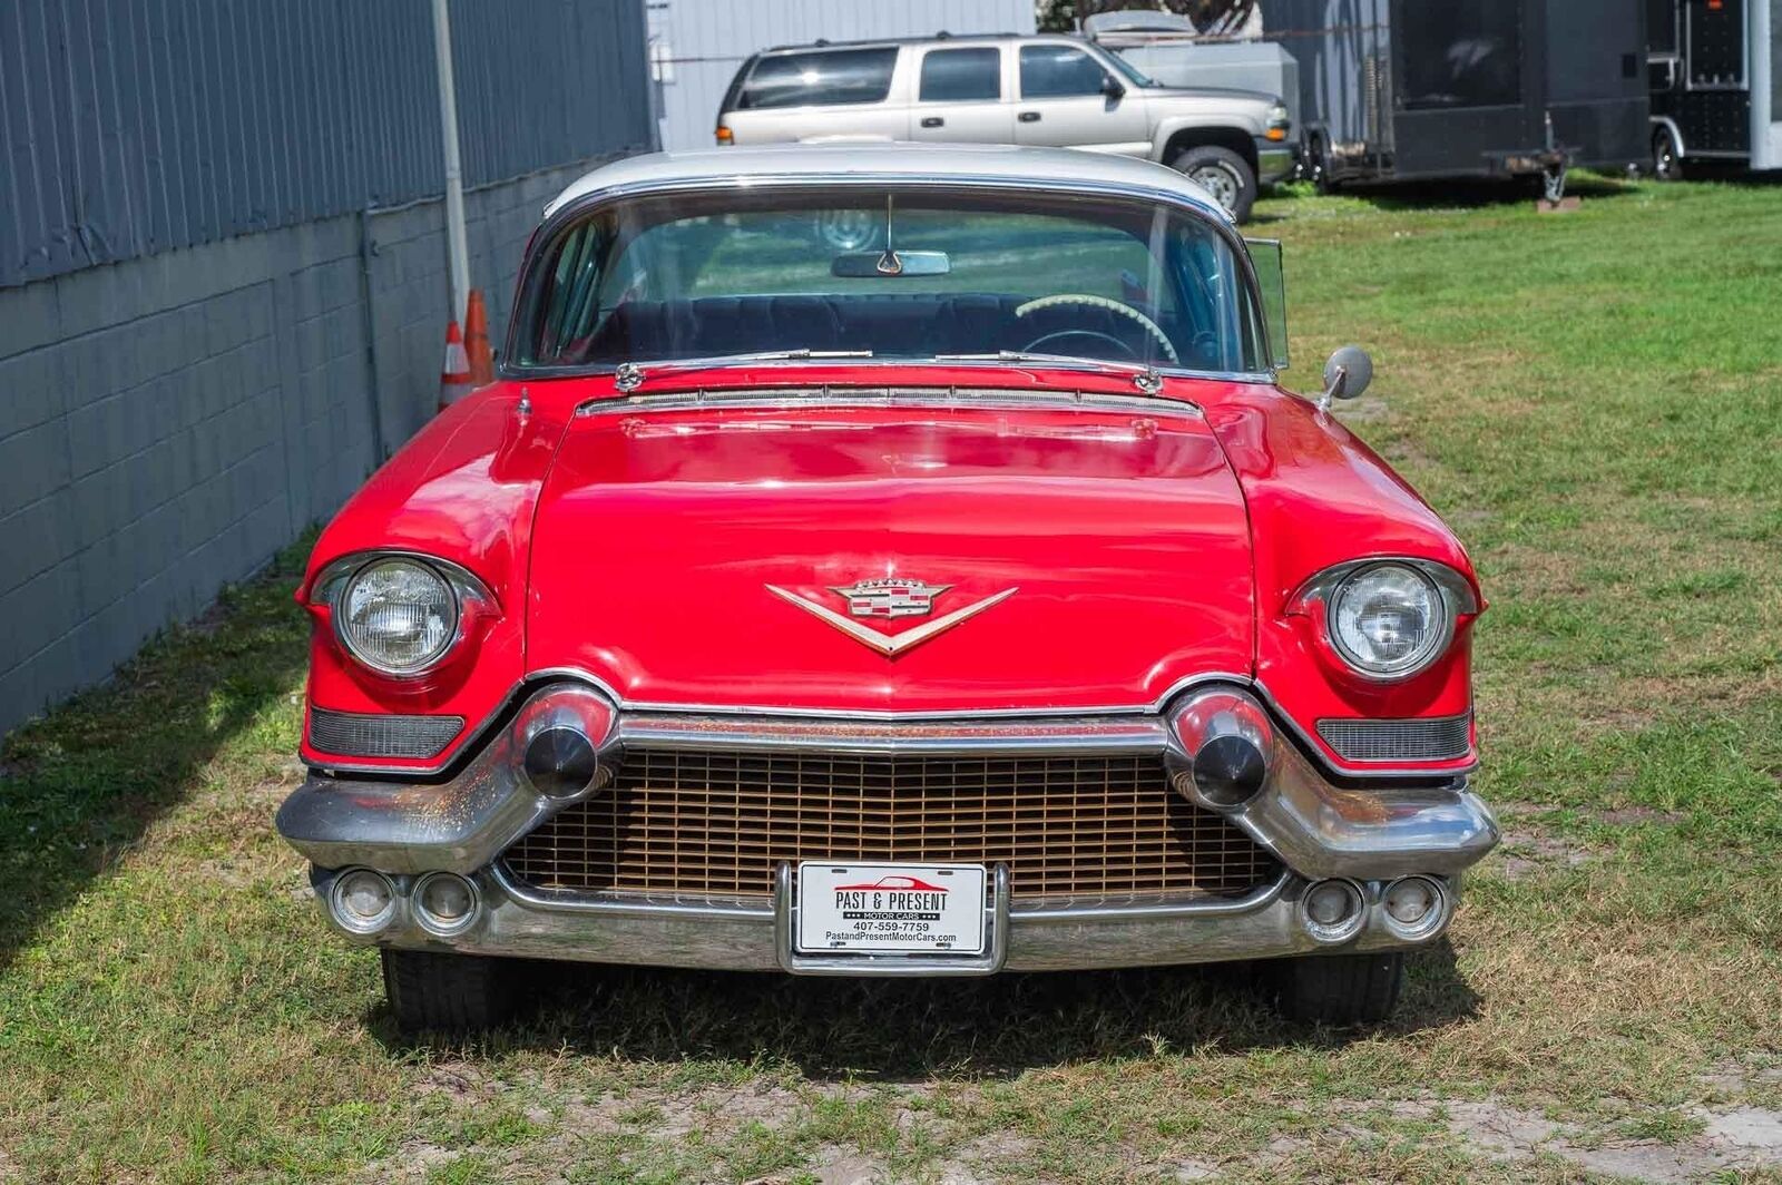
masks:
{"type": "Polygon", "coordinates": [[[834,383],[789,387],[740,387],[665,390],[652,396],[597,397],[581,403],[576,415],[624,415],[636,412],[706,412],[802,408],[946,408],[998,410],[1055,408],[1066,412],[1123,412],[1183,415],[1199,419],[1199,405],[1160,396],[1121,396],[1094,390],[1023,390],[1019,387],[838,387],[834,383]]]}

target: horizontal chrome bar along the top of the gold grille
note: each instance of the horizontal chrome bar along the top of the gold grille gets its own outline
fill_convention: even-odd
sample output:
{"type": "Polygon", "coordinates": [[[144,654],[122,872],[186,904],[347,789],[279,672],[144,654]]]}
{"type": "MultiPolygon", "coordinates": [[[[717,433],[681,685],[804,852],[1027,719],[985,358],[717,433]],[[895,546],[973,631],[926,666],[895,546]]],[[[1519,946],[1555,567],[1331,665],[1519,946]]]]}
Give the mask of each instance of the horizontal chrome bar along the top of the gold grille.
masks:
{"type": "Polygon", "coordinates": [[[832,754],[1108,756],[1160,754],[1162,716],[1103,716],[1025,723],[891,723],[625,713],[627,748],[713,748],[832,754]]]}

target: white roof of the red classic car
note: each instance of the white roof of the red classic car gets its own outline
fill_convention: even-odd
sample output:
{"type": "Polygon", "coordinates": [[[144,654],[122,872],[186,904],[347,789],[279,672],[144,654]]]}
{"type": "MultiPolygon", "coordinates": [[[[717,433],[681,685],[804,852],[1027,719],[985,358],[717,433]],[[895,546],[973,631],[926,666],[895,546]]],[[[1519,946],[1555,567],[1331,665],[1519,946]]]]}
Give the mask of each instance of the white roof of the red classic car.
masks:
{"type": "Polygon", "coordinates": [[[1205,189],[1174,169],[1099,151],[1019,148],[1014,144],[893,144],[884,141],[830,144],[759,144],[704,148],[625,157],[584,173],[545,207],[545,217],[563,205],[606,189],[650,189],[697,182],[813,180],[825,176],[884,178],[887,182],[1007,182],[1010,185],[1082,185],[1085,191],[1135,187],[1167,192],[1185,205],[1230,221],[1205,189]]]}

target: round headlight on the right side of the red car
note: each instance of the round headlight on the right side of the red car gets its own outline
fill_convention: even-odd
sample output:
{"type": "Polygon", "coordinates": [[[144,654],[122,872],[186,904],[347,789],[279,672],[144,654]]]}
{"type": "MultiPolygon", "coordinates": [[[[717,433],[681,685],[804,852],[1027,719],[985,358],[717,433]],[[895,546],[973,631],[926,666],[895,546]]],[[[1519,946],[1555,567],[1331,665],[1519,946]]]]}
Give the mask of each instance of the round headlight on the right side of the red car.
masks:
{"type": "Polygon", "coordinates": [[[1417,568],[1379,563],[1354,572],[1331,595],[1331,643],[1367,675],[1401,677],[1427,666],[1447,645],[1452,617],[1442,590],[1417,568]]]}

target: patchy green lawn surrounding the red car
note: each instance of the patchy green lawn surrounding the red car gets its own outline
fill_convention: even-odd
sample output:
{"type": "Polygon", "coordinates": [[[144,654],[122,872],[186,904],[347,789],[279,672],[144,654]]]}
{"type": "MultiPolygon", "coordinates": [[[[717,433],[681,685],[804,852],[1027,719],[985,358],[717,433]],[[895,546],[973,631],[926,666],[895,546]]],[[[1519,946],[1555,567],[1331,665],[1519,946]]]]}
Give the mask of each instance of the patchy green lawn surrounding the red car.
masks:
{"type": "Polygon", "coordinates": [[[271,832],[294,549],[7,741],[0,1180],[1782,1180],[1782,1149],[1714,1135],[1782,1108],[1778,196],[1258,207],[1290,378],[1374,351],[1342,415],[1493,602],[1508,843],[1392,1025],[1287,1026],[1217,969],[583,968],[515,1028],[405,1044],[271,832]]]}

